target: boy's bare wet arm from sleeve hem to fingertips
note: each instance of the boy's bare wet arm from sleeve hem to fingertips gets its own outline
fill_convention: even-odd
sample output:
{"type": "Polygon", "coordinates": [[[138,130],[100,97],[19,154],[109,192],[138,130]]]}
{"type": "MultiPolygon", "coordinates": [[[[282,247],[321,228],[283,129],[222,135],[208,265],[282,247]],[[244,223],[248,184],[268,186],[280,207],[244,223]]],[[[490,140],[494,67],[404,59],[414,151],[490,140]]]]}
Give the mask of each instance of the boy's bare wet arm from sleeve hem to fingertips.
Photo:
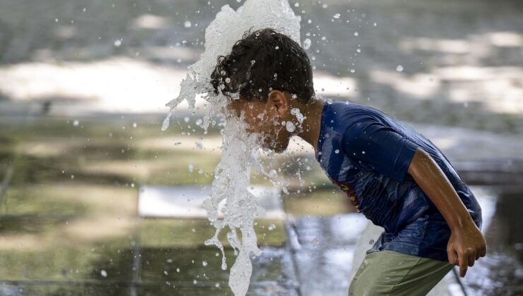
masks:
{"type": "Polygon", "coordinates": [[[473,266],[474,261],[485,256],[485,238],[430,154],[418,148],[408,172],[447,221],[452,231],[447,245],[449,263],[459,265],[459,275],[465,276],[467,265],[473,266]]]}

